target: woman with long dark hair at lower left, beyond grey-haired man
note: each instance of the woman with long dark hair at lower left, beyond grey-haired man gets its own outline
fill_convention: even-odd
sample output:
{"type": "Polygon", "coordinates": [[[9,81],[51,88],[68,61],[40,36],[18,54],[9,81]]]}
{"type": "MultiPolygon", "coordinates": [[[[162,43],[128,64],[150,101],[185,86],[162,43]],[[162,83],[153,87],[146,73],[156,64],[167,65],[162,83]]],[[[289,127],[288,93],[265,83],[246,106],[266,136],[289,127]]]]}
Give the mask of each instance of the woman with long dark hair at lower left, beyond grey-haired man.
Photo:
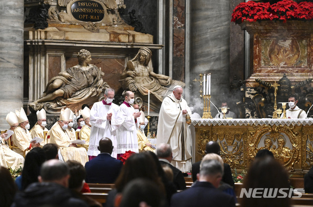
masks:
{"type": "Polygon", "coordinates": [[[40,147],[34,147],[26,154],[22,175],[15,180],[19,190],[24,190],[29,184],[38,182],[40,167],[45,160],[45,151],[40,147]]]}

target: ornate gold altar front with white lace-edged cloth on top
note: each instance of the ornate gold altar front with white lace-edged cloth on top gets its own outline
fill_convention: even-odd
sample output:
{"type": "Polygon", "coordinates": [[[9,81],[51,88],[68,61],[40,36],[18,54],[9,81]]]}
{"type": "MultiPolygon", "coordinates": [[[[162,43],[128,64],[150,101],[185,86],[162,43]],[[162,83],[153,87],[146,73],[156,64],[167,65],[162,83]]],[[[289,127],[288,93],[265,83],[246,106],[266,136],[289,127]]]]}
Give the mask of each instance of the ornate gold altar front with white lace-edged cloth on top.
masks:
{"type": "Polygon", "coordinates": [[[261,149],[271,151],[294,177],[303,177],[313,164],[313,119],[193,119],[196,162],[205,145],[216,141],[231,169],[247,169],[261,149]]]}

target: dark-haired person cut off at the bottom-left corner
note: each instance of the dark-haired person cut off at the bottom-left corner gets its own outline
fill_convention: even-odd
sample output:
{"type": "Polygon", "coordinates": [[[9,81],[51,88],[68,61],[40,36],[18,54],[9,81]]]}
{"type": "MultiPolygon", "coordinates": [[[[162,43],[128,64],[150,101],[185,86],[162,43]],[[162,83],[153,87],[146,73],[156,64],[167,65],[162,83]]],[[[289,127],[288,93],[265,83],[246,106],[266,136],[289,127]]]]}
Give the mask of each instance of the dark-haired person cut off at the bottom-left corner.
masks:
{"type": "Polygon", "coordinates": [[[9,170],[2,166],[0,166],[0,186],[0,207],[10,207],[18,188],[9,170]]]}

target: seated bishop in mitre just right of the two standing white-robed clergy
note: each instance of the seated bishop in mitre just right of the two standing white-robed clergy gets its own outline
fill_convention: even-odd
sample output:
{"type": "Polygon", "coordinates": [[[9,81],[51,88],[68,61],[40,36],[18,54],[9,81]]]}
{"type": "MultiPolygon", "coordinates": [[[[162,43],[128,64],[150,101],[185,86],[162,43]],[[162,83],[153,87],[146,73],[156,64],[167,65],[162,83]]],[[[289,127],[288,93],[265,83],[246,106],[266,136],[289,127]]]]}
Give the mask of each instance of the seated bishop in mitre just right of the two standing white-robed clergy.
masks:
{"type": "Polygon", "coordinates": [[[139,118],[137,118],[137,120],[139,120],[139,129],[137,131],[137,139],[138,139],[138,148],[139,148],[139,152],[143,152],[143,151],[152,151],[155,152],[156,149],[154,147],[154,145],[152,145],[148,138],[145,135],[145,126],[147,125],[147,123],[145,122],[145,113],[143,113],[143,111],[140,111],[141,115],[139,118]]]}

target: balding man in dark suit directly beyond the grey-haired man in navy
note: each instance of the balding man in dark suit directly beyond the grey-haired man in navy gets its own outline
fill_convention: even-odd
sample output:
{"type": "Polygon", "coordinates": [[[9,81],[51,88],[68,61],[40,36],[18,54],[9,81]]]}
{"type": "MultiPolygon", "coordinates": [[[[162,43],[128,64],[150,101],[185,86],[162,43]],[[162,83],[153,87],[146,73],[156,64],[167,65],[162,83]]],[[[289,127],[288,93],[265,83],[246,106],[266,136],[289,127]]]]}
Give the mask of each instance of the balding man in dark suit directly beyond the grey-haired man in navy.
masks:
{"type": "MultiPolygon", "coordinates": [[[[220,152],[221,152],[221,148],[217,142],[210,141],[210,142],[206,143],[205,154],[215,153],[215,154],[220,155],[220,152]]],[[[201,161],[192,165],[192,180],[194,182],[197,180],[197,174],[200,171],[200,163],[201,163],[201,161]]],[[[224,175],[223,175],[222,181],[224,183],[227,183],[228,185],[230,185],[232,187],[235,186],[233,176],[231,175],[230,166],[227,163],[224,163],[224,175]]]]}

